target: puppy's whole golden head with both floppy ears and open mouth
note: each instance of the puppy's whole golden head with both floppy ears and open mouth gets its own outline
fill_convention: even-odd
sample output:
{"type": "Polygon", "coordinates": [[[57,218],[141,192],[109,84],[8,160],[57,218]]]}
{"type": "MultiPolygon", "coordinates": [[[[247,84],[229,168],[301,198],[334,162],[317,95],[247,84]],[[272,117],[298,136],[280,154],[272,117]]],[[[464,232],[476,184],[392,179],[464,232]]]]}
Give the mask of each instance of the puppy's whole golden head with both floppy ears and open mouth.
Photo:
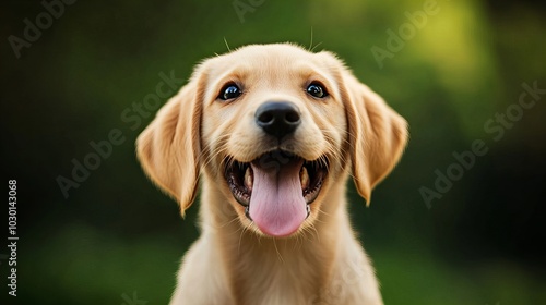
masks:
{"type": "Polygon", "coordinates": [[[140,135],[138,156],[182,211],[202,171],[224,198],[215,204],[281,237],[336,205],[328,194],[349,171],[369,202],[406,138],[405,121],[330,52],[254,45],[201,63],[140,135]]]}

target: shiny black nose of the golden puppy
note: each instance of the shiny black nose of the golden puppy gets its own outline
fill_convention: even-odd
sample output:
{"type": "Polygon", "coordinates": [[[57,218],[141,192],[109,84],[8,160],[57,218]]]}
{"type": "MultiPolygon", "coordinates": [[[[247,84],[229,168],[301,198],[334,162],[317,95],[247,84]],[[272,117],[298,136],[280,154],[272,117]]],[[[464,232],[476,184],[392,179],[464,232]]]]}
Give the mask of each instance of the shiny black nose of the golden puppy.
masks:
{"type": "Polygon", "coordinates": [[[258,107],[256,123],[264,132],[282,138],[301,123],[299,109],[288,101],[268,101],[258,107]]]}

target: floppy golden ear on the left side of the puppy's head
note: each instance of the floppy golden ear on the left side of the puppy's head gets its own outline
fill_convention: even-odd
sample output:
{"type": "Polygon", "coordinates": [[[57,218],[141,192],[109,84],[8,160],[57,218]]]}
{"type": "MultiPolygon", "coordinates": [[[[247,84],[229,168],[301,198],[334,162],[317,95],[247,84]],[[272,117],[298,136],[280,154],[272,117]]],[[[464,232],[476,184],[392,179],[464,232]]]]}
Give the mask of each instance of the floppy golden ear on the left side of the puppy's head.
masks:
{"type": "Polygon", "coordinates": [[[193,203],[200,171],[201,93],[193,77],[157,112],[136,139],[136,156],[150,179],[180,204],[193,203]]]}

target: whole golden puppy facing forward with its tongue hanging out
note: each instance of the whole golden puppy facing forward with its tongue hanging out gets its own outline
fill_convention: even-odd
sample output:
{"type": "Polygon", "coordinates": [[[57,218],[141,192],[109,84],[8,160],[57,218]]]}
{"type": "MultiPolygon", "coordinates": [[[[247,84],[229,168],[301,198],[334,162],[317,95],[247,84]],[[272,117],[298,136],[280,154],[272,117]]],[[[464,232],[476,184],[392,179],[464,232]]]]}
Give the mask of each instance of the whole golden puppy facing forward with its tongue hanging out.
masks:
{"type": "Polygon", "coordinates": [[[382,304],[345,185],[370,192],[407,141],[402,117],[331,52],[246,46],[199,64],[136,141],[201,236],[170,304],[382,304]]]}

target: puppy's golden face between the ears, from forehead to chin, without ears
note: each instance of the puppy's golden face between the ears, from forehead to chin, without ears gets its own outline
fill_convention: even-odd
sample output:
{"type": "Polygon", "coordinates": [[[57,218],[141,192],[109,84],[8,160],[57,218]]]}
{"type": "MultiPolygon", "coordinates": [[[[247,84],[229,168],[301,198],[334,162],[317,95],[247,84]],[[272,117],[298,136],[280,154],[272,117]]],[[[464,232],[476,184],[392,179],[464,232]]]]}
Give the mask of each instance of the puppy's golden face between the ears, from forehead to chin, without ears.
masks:
{"type": "Polygon", "coordinates": [[[205,164],[257,232],[287,236],[312,223],[344,167],[347,123],[331,60],[254,46],[205,63],[205,164]]]}

